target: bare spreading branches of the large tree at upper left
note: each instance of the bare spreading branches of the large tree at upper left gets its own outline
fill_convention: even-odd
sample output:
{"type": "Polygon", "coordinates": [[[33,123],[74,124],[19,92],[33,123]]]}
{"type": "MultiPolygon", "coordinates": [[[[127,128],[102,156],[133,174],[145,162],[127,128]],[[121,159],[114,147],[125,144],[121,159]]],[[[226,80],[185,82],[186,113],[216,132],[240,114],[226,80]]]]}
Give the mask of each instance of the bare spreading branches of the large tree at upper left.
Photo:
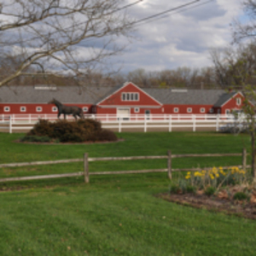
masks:
{"type": "Polygon", "coordinates": [[[114,41],[131,32],[130,5],[125,0],[3,0],[0,86],[27,73],[88,73],[124,47],[114,41]]]}

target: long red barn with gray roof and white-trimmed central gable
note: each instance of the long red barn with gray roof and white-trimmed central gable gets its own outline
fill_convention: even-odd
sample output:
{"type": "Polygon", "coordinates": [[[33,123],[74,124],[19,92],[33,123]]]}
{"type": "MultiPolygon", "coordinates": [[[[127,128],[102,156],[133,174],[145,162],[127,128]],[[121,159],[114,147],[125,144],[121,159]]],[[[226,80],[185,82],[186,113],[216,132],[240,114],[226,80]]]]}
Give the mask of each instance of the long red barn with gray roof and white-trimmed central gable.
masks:
{"type": "Polygon", "coordinates": [[[131,82],[117,87],[2,86],[0,113],[56,113],[47,104],[53,97],[66,105],[76,105],[84,113],[199,114],[230,113],[240,109],[241,92],[140,88],[131,82]]]}

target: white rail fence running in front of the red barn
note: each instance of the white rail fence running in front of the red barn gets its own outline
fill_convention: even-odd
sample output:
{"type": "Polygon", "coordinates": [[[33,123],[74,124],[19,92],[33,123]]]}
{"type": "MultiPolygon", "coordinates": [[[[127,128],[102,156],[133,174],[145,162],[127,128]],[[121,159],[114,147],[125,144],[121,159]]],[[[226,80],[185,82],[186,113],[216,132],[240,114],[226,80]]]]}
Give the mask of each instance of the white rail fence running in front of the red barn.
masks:
{"type": "MultiPolygon", "coordinates": [[[[233,114],[85,114],[85,119],[96,119],[102,127],[113,131],[178,131],[189,128],[219,131],[229,125],[241,125],[243,119],[233,114]]],[[[0,131],[29,131],[38,119],[55,121],[56,114],[0,114],[0,131]]],[[[73,119],[73,116],[67,116],[73,119]]]]}

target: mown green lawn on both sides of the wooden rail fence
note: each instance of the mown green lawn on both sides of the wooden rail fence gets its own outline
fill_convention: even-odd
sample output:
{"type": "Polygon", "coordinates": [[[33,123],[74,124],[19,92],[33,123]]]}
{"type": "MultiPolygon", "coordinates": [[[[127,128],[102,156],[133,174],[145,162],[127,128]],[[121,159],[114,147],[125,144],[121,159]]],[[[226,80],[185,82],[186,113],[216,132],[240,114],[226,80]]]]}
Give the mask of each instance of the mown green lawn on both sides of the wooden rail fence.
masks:
{"type": "MultiPolygon", "coordinates": [[[[0,163],[182,153],[241,153],[247,136],[216,133],[122,133],[124,142],[34,145],[0,134],[0,163]]],[[[173,160],[173,167],[241,164],[240,157],[173,160]]],[[[79,172],[82,163],[3,168],[0,177],[79,172]]],[[[90,163],[90,172],[165,168],[166,160],[90,163]]],[[[0,183],[0,255],[255,255],[254,221],[183,207],[167,192],[166,173],[0,183]],[[26,188],[27,189],[24,189],[26,188]]]]}

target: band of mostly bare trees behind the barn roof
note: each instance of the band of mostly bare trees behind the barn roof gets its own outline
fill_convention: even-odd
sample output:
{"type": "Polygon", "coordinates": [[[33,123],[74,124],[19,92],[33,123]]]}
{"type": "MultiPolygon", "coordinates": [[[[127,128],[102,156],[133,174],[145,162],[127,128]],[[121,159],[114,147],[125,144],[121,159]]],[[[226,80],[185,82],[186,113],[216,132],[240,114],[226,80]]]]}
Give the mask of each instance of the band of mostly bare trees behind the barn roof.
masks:
{"type": "MultiPolygon", "coordinates": [[[[130,73],[103,74],[88,72],[80,76],[55,76],[47,73],[36,73],[30,68],[27,75],[22,75],[9,84],[35,85],[55,84],[86,86],[116,86],[131,81],[140,87],[152,88],[190,88],[190,89],[227,89],[243,84],[256,83],[256,43],[239,45],[223,50],[212,49],[212,67],[191,68],[178,67],[163,71],[145,71],[143,68],[130,73]]],[[[8,68],[15,66],[9,61],[9,65],[0,68],[0,74],[8,72],[8,68]]]]}

